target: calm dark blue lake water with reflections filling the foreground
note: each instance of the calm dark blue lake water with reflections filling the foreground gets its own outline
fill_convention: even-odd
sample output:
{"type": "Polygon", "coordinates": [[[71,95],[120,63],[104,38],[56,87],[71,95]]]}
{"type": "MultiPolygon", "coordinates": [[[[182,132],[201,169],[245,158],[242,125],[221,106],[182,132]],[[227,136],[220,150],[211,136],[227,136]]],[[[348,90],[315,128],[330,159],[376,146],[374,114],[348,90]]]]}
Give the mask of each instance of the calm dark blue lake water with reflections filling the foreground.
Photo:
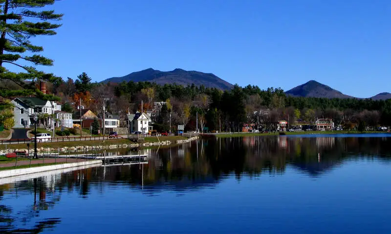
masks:
{"type": "Polygon", "coordinates": [[[207,138],[3,183],[0,233],[391,233],[391,138],[361,136],[207,138]]]}

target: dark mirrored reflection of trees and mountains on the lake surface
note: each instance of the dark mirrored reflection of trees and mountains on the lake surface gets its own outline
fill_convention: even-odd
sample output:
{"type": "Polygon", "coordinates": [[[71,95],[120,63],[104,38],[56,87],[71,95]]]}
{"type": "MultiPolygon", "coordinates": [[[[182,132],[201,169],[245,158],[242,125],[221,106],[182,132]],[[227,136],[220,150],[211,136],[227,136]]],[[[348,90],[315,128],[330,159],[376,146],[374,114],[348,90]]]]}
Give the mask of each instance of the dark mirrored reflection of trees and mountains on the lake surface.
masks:
{"type": "MultiPolygon", "coordinates": [[[[287,169],[322,177],[354,160],[390,163],[390,138],[245,137],[205,138],[171,148],[145,149],[147,163],[94,167],[0,185],[0,233],[40,233],[61,223],[61,217],[41,217],[56,209],[66,194],[88,199],[109,195],[111,188],[146,196],[215,189],[234,175],[282,175],[287,169]]],[[[113,155],[134,154],[112,150],[113,155]]]]}

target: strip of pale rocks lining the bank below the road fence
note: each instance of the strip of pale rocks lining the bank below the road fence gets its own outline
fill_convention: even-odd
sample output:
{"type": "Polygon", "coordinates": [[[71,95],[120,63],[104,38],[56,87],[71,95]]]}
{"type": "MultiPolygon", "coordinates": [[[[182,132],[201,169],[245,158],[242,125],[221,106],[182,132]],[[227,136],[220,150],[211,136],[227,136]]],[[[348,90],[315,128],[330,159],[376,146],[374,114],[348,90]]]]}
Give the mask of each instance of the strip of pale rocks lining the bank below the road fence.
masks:
{"type": "MultiPolygon", "coordinates": [[[[186,140],[177,140],[175,144],[184,144],[189,143],[191,141],[194,141],[198,139],[198,136],[190,137],[186,140]]],[[[37,152],[67,152],[67,151],[76,151],[76,150],[95,150],[95,149],[117,149],[117,148],[139,148],[139,147],[150,147],[150,146],[168,146],[174,144],[171,141],[161,141],[159,142],[146,142],[146,143],[134,143],[134,144],[121,144],[121,145],[108,145],[108,146],[76,146],[76,147],[63,147],[59,149],[54,148],[37,148],[37,152]]],[[[0,150],[0,155],[8,152],[14,152],[14,151],[25,151],[27,152],[27,149],[11,149],[11,150],[0,150]]],[[[32,150],[30,150],[31,152],[32,150]]]]}

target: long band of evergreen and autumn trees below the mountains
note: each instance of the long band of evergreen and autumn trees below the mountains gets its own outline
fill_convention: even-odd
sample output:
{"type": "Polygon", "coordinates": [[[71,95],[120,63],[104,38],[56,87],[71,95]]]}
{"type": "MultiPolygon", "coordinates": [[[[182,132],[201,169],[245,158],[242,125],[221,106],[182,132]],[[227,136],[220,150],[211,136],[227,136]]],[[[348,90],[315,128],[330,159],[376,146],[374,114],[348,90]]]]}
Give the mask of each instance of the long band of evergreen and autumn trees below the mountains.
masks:
{"type": "Polygon", "coordinates": [[[73,111],[80,105],[96,114],[103,103],[112,114],[125,119],[128,112],[151,111],[160,128],[174,130],[198,127],[218,131],[240,131],[243,124],[263,126],[290,120],[290,124],[314,124],[319,118],[331,118],[336,125],[357,128],[391,125],[391,100],[304,98],[286,96],[281,88],[261,89],[255,85],[220,90],[203,85],[158,85],[151,82],[91,83],[86,73],[75,81],[68,78],[48,85],[61,98],[63,110],[73,111]],[[164,102],[162,106],[155,102],[164,102]],[[170,128],[171,127],[171,128],[170,128]]]}

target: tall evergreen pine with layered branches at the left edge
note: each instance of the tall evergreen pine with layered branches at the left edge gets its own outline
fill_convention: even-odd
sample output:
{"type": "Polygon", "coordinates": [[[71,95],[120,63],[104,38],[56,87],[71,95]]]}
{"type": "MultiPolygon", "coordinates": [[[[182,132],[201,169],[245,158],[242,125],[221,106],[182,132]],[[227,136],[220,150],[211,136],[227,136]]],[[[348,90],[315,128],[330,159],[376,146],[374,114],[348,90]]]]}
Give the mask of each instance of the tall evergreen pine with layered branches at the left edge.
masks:
{"type": "Polygon", "coordinates": [[[0,109],[13,96],[36,95],[44,100],[59,100],[52,95],[44,95],[36,87],[38,80],[56,82],[58,77],[36,69],[38,65],[51,66],[53,60],[39,53],[43,47],[30,43],[30,38],[40,35],[55,35],[54,29],[61,24],[62,14],[53,10],[42,10],[55,0],[0,0],[0,109]],[[32,65],[30,65],[32,64],[32,65]],[[10,88],[18,85],[20,89],[10,88]]]}

